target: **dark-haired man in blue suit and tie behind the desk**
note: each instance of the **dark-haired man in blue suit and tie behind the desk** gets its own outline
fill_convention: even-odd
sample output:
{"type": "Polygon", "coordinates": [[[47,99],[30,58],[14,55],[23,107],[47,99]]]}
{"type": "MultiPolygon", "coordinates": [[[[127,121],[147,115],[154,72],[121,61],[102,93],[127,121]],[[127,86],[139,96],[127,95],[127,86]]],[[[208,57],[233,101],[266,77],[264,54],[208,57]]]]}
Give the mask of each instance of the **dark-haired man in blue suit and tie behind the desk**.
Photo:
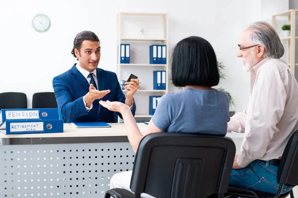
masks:
{"type": "Polygon", "coordinates": [[[65,122],[115,122],[114,112],[101,108],[99,100],[123,102],[135,115],[133,96],[140,88],[139,80],[126,82],[125,96],[117,75],[97,68],[100,42],[93,32],[83,31],[76,35],[72,54],[78,63],[53,79],[55,97],[65,122]]]}

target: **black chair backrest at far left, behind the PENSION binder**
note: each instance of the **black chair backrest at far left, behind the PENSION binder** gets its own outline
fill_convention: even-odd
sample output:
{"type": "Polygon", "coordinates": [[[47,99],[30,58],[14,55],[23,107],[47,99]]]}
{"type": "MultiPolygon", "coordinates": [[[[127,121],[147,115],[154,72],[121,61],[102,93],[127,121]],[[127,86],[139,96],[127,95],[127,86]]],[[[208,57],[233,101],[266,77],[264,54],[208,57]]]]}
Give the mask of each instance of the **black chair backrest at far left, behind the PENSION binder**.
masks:
{"type": "Polygon", "coordinates": [[[24,93],[0,93],[0,109],[27,108],[27,96],[24,93]]]}

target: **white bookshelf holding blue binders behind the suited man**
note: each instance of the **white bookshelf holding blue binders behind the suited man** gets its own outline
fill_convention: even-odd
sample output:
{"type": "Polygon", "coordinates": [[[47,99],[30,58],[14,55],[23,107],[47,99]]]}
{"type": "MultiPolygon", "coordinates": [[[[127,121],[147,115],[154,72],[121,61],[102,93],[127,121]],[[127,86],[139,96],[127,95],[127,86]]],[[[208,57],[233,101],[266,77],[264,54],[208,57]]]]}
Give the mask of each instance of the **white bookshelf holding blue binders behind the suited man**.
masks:
{"type": "MultiPolygon", "coordinates": [[[[168,93],[169,86],[169,50],[167,13],[138,13],[120,12],[117,18],[118,64],[117,76],[120,80],[127,80],[130,73],[139,77],[142,85],[134,99],[137,105],[135,118],[151,118],[149,115],[149,96],[163,96],[168,93]],[[141,35],[143,28],[145,34],[141,35]],[[130,44],[130,63],[120,63],[121,44],[130,44]],[[166,45],[166,64],[149,64],[149,46],[166,45]],[[153,71],[166,71],[166,89],[153,90],[153,71]]],[[[123,90],[126,94],[126,90],[123,90]]],[[[118,118],[118,122],[121,119],[118,118]]]]}

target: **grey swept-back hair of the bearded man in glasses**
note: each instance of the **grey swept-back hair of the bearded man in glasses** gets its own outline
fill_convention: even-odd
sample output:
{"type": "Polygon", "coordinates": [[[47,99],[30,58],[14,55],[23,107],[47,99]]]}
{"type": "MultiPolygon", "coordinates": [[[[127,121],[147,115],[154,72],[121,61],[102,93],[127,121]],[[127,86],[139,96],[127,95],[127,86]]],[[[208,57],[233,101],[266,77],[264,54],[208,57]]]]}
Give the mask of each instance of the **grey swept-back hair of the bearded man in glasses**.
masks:
{"type": "Polygon", "coordinates": [[[256,21],[245,30],[251,30],[249,37],[252,45],[262,45],[265,48],[263,57],[280,58],[284,55],[284,46],[274,28],[265,21],[256,21]]]}

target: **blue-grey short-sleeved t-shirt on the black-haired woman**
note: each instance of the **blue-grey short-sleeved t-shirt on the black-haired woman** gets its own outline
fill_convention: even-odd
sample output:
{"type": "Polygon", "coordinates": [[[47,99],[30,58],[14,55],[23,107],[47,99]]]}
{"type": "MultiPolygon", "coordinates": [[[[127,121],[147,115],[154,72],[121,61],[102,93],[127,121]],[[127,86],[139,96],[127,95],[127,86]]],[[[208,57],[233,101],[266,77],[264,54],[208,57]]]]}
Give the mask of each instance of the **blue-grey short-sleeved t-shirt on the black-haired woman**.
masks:
{"type": "Polygon", "coordinates": [[[224,92],[191,88],[161,97],[152,116],[152,122],[164,132],[216,135],[226,134],[229,119],[224,92]]]}

